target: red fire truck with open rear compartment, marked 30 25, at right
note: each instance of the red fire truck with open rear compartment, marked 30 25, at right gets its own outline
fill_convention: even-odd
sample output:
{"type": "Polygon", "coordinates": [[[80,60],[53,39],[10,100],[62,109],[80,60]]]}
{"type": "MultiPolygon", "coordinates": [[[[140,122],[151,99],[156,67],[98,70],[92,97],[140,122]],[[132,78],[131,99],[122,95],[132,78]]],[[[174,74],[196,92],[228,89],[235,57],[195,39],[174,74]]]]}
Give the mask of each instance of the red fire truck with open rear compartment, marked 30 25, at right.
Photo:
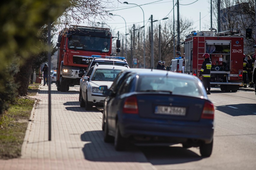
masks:
{"type": "Polygon", "coordinates": [[[209,53],[212,61],[211,86],[220,85],[222,91],[236,92],[242,84],[243,48],[239,29],[192,31],[184,43],[184,73],[199,77],[203,54],[209,53]]]}

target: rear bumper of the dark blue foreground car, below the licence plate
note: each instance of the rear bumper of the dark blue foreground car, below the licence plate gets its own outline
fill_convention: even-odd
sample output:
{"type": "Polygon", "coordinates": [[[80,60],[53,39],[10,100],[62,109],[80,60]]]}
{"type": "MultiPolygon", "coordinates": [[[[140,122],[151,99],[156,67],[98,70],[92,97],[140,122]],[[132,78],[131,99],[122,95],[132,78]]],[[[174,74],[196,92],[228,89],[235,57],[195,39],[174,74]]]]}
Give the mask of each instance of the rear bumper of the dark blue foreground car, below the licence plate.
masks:
{"type": "Polygon", "coordinates": [[[213,139],[212,120],[201,119],[198,122],[142,119],[128,115],[119,119],[120,133],[123,137],[160,136],[174,139],[198,139],[210,143],[213,139]]]}

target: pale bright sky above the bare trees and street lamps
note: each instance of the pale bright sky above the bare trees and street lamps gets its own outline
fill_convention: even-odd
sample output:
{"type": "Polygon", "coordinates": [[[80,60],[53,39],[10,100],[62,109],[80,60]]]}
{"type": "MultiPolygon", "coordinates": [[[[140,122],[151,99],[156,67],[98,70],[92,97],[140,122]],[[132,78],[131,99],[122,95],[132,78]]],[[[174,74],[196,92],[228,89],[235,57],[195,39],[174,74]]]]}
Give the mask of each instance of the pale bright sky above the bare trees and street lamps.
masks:
{"type": "MultiPolygon", "coordinates": [[[[153,15],[153,19],[160,20],[164,17],[169,17],[173,22],[173,1],[172,0],[119,0],[120,2],[128,2],[141,5],[144,16],[145,26],[150,25],[149,18],[153,15]],[[152,3],[153,2],[153,3],[152,3]],[[145,4],[145,5],[143,5],[145,4]]],[[[143,26],[143,13],[142,9],[133,4],[122,4],[117,0],[113,0],[113,8],[111,13],[113,15],[120,15],[126,21],[127,33],[128,29],[133,24],[138,27],[143,26]],[[132,8],[129,8],[132,7],[132,8]]],[[[174,1],[176,4],[177,0],[174,1]]],[[[180,17],[190,19],[194,22],[195,31],[205,31],[210,28],[210,0],[179,0],[179,13],[180,17]],[[200,20],[201,13],[201,20],[200,20]],[[201,23],[201,24],[200,24],[201,23]]],[[[125,22],[120,16],[113,16],[108,18],[106,24],[110,26],[115,32],[125,33],[125,22]]],[[[174,7],[175,20],[177,19],[177,6],[174,7]]],[[[102,22],[102,21],[99,21],[102,22]]],[[[162,21],[163,22],[163,21],[162,21]]],[[[157,25],[159,22],[155,22],[157,25]]],[[[137,27],[137,28],[138,28],[137,27]]],[[[193,31],[193,30],[191,30],[193,31]]],[[[189,33],[189,32],[188,32],[189,33]]]]}

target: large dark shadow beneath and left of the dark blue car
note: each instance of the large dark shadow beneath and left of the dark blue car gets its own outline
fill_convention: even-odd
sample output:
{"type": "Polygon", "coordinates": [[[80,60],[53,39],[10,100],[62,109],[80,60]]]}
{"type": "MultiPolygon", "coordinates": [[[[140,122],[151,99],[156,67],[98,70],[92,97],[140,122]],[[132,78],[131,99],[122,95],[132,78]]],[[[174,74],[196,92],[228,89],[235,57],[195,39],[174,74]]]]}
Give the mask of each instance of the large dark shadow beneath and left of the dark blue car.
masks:
{"type": "Polygon", "coordinates": [[[81,140],[84,145],[84,158],[90,161],[105,162],[150,162],[151,164],[178,164],[203,159],[198,154],[181,147],[135,146],[130,144],[126,151],[115,151],[114,143],[103,141],[103,131],[87,131],[81,140]]]}

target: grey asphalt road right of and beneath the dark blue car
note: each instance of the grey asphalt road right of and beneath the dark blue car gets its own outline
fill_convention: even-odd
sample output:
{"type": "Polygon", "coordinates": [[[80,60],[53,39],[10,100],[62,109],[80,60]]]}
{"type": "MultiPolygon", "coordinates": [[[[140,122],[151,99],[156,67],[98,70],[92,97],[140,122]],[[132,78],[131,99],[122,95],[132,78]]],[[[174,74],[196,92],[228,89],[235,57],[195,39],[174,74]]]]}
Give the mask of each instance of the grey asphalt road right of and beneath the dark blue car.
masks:
{"type": "Polygon", "coordinates": [[[255,92],[221,92],[218,88],[212,88],[209,98],[215,106],[215,133],[211,157],[201,157],[199,148],[185,149],[180,144],[169,147],[136,147],[157,170],[255,169],[255,92]]]}

